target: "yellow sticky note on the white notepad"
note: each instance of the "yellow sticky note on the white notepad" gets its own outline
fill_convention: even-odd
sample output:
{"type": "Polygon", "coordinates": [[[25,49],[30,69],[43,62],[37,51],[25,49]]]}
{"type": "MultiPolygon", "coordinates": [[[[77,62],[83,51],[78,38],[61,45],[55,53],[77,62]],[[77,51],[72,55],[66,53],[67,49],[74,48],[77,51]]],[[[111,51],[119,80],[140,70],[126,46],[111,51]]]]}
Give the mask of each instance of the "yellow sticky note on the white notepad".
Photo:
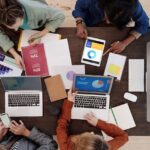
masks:
{"type": "Polygon", "coordinates": [[[108,67],[108,72],[118,76],[121,73],[121,67],[115,64],[110,64],[108,67]]]}

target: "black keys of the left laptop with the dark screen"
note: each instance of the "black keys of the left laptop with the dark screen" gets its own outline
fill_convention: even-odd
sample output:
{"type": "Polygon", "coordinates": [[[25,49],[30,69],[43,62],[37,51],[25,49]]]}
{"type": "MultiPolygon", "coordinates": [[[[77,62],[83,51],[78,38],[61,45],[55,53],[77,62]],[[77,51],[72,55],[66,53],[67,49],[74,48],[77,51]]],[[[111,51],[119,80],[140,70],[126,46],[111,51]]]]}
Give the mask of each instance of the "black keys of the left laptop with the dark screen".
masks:
{"type": "Polygon", "coordinates": [[[39,106],[39,94],[9,94],[8,106],[39,106]]]}

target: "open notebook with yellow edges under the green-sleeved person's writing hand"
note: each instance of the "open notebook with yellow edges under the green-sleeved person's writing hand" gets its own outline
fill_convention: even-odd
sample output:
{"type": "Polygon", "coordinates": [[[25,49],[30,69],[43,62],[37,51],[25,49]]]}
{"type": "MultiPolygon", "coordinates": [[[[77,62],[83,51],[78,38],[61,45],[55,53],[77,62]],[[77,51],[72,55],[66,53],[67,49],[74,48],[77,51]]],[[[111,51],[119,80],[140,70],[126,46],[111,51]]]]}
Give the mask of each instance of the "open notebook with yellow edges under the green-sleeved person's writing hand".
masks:
{"type": "MultiPolygon", "coordinates": [[[[18,42],[18,51],[21,51],[21,47],[29,46],[28,40],[29,37],[35,33],[38,33],[37,30],[23,30],[20,34],[19,42],[18,42]]],[[[47,33],[44,37],[41,38],[41,43],[50,43],[55,40],[60,40],[60,34],[47,33]]]]}

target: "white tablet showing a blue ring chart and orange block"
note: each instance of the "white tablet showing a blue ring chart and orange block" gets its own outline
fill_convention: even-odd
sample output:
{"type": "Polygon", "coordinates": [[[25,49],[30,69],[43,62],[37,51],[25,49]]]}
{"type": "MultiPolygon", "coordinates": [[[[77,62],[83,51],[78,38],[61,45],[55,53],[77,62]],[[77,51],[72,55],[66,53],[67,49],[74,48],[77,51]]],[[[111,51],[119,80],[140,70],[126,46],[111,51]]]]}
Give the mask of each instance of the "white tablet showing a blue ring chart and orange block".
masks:
{"type": "Polygon", "coordinates": [[[88,37],[83,50],[81,62],[93,66],[100,66],[105,40],[88,37]]]}

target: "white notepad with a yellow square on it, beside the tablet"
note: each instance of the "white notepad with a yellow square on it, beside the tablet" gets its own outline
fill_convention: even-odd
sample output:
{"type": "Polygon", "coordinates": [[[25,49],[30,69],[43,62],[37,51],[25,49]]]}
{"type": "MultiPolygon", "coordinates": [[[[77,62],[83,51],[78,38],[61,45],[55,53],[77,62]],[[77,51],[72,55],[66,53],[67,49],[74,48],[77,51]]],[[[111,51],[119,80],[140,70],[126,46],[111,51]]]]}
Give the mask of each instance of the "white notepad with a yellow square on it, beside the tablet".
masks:
{"type": "Polygon", "coordinates": [[[116,77],[117,80],[121,80],[125,62],[126,56],[109,53],[104,75],[110,75],[116,77]]]}

